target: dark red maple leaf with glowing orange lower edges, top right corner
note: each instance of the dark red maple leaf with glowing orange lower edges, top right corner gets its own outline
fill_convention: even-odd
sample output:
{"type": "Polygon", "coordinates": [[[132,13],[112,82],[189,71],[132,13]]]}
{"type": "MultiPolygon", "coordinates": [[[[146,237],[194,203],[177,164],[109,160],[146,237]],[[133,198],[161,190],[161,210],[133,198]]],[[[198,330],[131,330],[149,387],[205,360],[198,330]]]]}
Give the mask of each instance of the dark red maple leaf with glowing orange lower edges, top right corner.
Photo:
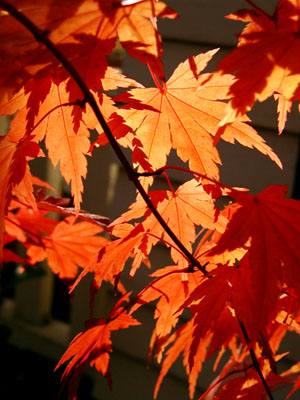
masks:
{"type": "MultiPolygon", "coordinates": [[[[246,114],[256,101],[280,94],[287,102],[300,99],[300,68],[295,54],[300,52],[300,6],[296,0],[280,1],[272,16],[256,7],[240,10],[229,19],[247,22],[239,37],[239,45],[219,64],[221,74],[237,78],[229,89],[232,97],[220,125],[246,114]]],[[[279,104],[279,131],[284,127],[286,111],[279,104]]]]}

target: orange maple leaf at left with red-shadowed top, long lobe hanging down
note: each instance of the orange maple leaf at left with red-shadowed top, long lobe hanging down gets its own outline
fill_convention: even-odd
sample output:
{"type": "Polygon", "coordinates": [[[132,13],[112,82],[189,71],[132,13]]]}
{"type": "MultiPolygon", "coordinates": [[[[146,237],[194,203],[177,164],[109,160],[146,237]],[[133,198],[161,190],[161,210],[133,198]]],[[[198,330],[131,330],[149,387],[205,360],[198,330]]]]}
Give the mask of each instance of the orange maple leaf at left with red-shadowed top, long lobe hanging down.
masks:
{"type": "MultiPolygon", "coordinates": [[[[111,68],[104,75],[104,84],[109,90],[118,86],[138,86],[135,81],[113,72],[111,68]]],[[[62,176],[67,183],[71,183],[78,212],[83,191],[82,179],[87,173],[86,155],[90,151],[88,128],[93,129],[98,121],[90,108],[82,110],[76,104],[80,93],[73,86],[73,80],[63,80],[61,74],[53,73],[37,82],[31,80],[0,107],[0,112],[11,114],[19,110],[9,131],[14,141],[19,141],[25,132],[34,134],[36,141],[46,137],[49,158],[54,166],[60,163],[62,176]]],[[[97,100],[103,115],[108,119],[115,112],[112,100],[104,94],[99,95],[97,100]]],[[[117,123],[122,123],[117,115],[115,119],[117,123]]]]}

